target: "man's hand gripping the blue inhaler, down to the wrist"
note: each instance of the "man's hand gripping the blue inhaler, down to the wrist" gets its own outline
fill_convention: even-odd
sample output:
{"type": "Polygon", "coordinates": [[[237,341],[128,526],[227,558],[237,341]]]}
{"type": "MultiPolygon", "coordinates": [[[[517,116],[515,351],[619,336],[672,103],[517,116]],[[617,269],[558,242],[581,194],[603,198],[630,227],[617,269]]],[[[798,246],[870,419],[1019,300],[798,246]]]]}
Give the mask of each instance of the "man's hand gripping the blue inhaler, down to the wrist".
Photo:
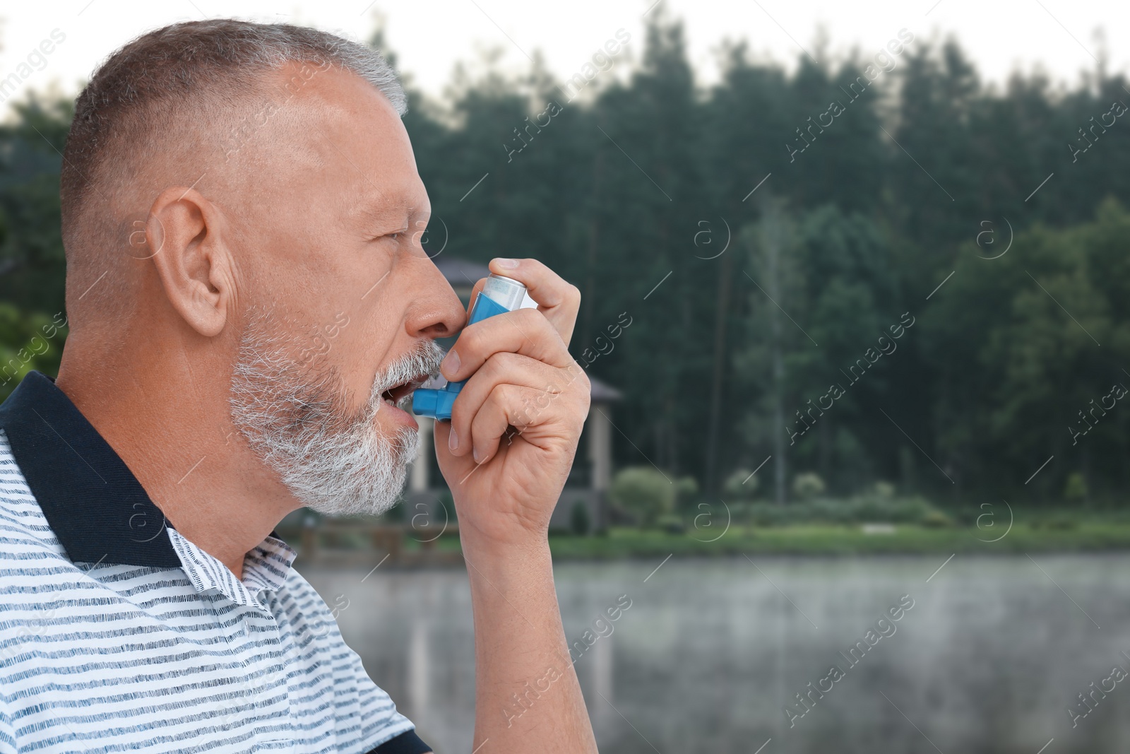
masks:
{"type": "Polygon", "coordinates": [[[546,537],[589,415],[590,387],[568,353],[576,286],[534,259],[495,259],[490,271],[523,283],[538,307],[496,314],[460,333],[441,371],[450,381],[470,379],[451,422],[436,422],[435,452],[464,544],[512,546],[546,537]]]}

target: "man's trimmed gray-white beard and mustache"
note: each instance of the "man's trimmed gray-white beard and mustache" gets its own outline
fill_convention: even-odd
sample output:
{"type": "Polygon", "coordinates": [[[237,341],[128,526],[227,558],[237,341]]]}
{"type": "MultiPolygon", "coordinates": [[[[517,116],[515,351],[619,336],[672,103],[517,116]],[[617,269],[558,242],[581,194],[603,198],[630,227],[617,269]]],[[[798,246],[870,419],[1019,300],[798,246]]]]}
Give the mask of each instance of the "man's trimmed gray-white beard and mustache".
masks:
{"type": "Polygon", "coordinates": [[[379,515],[397,504],[417,431],[384,436],[376,424],[381,393],[421,372],[434,373],[443,349],[420,341],[379,372],[368,400],[349,409],[336,369],[303,367],[269,314],[247,324],[232,374],[232,422],[252,451],[303,505],[325,515],[379,515]]]}

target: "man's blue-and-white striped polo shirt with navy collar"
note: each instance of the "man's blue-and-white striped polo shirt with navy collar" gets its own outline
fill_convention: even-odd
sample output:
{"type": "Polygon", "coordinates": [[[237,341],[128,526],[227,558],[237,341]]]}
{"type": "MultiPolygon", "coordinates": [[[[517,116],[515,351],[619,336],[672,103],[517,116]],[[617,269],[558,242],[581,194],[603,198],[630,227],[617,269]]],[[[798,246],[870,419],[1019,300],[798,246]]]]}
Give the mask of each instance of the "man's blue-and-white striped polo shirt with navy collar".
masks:
{"type": "Polygon", "coordinates": [[[29,373],[0,406],[0,754],[429,751],[273,535],[237,579],[29,373]]]}

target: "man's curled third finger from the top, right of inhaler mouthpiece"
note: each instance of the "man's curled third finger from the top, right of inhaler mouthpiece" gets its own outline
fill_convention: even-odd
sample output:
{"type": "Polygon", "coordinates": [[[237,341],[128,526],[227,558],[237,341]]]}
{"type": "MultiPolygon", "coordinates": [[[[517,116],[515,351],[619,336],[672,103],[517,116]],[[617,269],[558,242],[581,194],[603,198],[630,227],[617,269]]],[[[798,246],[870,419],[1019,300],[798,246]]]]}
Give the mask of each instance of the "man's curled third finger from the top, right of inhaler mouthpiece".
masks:
{"type": "MultiPolygon", "coordinates": [[[[492,356],[471,379],[467,381],[459,397],[451,408],[451,432],[447,437],[447,448],[454,456],[464,456],[468,452],[475,453],[476,461],[487,458],[484,451],[490,445],[494,436],[480,436],[475,430],[476,423],[481,425],[478,415],[484,410],[489,410],[486,406],[492,393],[499,385],[511,385],[515,388],[529,389],[533,392],[533,400],[530,395],[523,393],[523,402],[516,407],[507,407],[505,418],[508,425],[519,430],[534,423],[541,409],[549,405],[565,387],[571,378],[564,370],[544,364],[539,361],[523,356],[521,354],[495,354],[492,356]]],[[[494,423],[488,423],[494,427],[494,423]]],[[[503,425],[505,430],[507,425],[503,425]]],[[[493,452],[493,450],[490,451],[493,452]]]]}

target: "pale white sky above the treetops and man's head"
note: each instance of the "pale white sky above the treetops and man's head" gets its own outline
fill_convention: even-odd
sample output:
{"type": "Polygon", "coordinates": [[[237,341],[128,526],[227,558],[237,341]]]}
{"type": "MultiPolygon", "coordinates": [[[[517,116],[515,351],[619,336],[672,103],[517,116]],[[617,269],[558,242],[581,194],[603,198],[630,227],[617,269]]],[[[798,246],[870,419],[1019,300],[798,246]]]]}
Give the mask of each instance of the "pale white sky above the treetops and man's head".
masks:
{"type": "Polygon", "coordinates": [[[723,40],[746,40],[758,58],[792,68],[798,55],[820,54],[822,28],[833,58],[853,46],[870,58],[903,28],[923,41],[954,35],[982,78],[994,83],[1040,67],[1053,80],[1076,84],[1103,49],[1110,71],[1130,71],[1125,0],[8,0],[0,5],[0,80],[16,72],[19,90],[0,109],[29,89],[73,94],[114,49],[179,20],[235,16],[359,40],[383,24],[400,71],[440,98],[457,62],[475,63],[490,50],[513,73],[527,71],[540,51],[549,70],[566,79],[624,29],[627,55],[638,60],[644,17],[661,12],[685,21],[688,55],[704,86],[718,79],[723,40]],[[52,33],[62,42],[52,42],[52,33]],[[40,58],[44,41],[51,52],[40,58]],[[32,66],[20,67],[29,57],[32,66]]]}

